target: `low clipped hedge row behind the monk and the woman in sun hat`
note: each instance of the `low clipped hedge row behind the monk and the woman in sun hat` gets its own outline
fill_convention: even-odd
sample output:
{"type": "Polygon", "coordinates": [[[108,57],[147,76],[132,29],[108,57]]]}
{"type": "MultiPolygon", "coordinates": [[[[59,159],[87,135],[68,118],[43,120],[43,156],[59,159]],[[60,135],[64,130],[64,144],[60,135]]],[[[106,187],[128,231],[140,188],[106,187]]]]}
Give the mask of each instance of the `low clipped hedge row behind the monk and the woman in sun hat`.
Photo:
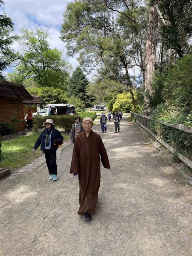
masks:
{"type": "Polygon", "coordinates": [[[94,120],[96,118],[96,112],[77,112],[77,115],[35,115],[33,117],[33,130],[37,131],[38,128],[43,128],[43,122],[45,122],[47,118],[51,118],[56,128],[64,128],[66,132],[70,132],[72,124],[75,123],[75,117],[77,116],[81,118],[81,121],[87,116],[94,120]]]}

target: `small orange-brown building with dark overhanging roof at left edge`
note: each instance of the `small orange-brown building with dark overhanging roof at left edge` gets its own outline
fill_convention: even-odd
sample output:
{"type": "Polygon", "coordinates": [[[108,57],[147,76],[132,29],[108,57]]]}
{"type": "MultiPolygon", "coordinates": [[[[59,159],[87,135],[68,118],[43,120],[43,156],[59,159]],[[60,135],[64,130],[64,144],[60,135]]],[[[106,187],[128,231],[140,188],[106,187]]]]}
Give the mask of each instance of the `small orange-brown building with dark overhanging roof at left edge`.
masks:
{"type": "Polygon", "coordinates": [[[15,125],[15,130],[23,130],[23,100],[34,100],[23,85],[0,80],[0,122],[11,123],[9,117],[17,113],[17,118],[22,119],[22,122],[15,125]]]}

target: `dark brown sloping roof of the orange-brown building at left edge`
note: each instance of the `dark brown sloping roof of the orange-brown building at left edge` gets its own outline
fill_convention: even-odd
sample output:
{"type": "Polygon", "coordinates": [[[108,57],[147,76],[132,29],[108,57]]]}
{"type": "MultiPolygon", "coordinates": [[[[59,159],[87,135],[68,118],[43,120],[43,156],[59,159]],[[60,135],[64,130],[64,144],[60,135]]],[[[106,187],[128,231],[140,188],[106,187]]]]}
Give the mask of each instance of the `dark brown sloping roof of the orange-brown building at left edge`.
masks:
{"type": "Polygon", "coordinates": [[[31,94],[19,83],[0,80],[0,97],[20,98],[23,100],[33,100],[31,94]]]}

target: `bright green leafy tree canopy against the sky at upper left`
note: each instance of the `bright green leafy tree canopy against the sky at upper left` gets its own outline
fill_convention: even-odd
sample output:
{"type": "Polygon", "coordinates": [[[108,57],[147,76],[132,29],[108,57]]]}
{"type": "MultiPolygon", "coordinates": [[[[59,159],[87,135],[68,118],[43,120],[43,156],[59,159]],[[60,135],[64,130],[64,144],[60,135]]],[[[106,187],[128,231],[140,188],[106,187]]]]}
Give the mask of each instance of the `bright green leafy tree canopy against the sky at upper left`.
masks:
{"type": "Polygon", "coordinates": [[[39,85],[64,88],[69,78],[70,65],[62,59],[62,51],[50,49],[49,30],[23,28],[19,38],[19,63],[8,79],[17,83],[33,79],[39,85]]]}

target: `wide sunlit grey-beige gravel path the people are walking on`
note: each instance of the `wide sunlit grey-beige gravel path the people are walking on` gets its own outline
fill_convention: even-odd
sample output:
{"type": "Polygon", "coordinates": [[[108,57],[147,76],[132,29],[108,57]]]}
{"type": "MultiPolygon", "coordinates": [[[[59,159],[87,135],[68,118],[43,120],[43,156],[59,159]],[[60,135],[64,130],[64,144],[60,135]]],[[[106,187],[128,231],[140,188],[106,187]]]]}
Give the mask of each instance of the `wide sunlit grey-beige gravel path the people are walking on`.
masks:
{"type": "Polygon", "coordinates": [[[73,145],[65,143],[58,181],[48,180],[44,156],[0,180],[0,255],[192,255],[191,189],[126,117],[119,133],[112,122],[105,134],[94,130],[111,170],[101,168],[92,221],[77,215],[73,145]]]}

